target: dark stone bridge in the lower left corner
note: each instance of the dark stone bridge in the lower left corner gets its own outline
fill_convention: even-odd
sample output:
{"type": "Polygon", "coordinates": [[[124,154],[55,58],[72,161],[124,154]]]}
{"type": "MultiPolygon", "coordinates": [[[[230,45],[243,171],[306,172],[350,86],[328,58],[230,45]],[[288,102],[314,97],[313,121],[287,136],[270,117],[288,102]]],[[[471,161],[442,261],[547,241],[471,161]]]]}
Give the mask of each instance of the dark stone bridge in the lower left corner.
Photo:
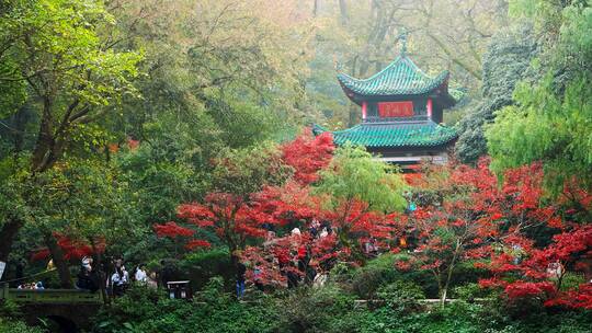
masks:
{"type": "Polygon", "coordinates": [[[75,333],[90,329],[90,319],[96,313],[103,298],[101,292],[77,289],[13,289],[4,284],[0,289],[0,301],[16,302],[30,324],[53,321],[59,332],[75,333]]]}

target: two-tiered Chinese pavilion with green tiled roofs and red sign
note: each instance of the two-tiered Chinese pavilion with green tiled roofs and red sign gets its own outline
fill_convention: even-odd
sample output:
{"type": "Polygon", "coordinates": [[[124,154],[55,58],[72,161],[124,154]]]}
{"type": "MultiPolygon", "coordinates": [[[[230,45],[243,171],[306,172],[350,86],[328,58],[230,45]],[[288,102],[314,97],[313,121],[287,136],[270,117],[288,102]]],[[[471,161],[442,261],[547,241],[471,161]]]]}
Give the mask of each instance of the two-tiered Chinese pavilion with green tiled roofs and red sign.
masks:
{"type": "MultiPolygon", "coordinates": [[[[443,111],[456,104],[448,92],[448,71],[431,78],[403,51],[368,79],[340,73],[348,97],[362,108],[362,123],[332,131],[335,145],[364,146],[403,170],[421,161],[444,163],[456,131],[442,124],[443,111]]],[[[327,131],[315,125],[316,135],[327,131]]]]}

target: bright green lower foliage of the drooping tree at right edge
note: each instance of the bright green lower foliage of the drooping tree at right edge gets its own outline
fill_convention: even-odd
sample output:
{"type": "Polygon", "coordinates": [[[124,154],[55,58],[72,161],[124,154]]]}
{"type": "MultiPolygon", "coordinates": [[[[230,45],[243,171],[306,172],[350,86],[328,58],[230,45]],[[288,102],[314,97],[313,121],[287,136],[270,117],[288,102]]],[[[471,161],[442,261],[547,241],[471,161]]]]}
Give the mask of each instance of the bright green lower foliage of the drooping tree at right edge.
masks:
{"type": "Polygon", "coordinates": [[[591,184],[592,95],[591,81],[570,83],[562,101],[553,93],[553,79],[522,84],[515,99],[520,106],[503,108],[488,127],[492,168],[504,170],[540,160],[551,187],[577,176],[591,184]]]}

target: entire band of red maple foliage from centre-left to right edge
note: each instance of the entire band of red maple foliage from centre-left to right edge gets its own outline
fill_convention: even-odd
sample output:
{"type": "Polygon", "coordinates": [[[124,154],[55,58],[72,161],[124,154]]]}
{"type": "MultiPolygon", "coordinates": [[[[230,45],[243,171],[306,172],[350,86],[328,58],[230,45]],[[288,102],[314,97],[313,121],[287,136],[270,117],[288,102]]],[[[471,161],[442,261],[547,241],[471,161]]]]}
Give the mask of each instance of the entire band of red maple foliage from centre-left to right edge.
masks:
{"type": "Polygon", "coordinates": [[[500,287],[510,299],[592,307],[590,284],[561,285],[567,272],[591,271],[592,227],[573,220],[590,213],[592,196],[576,181],[553,200],[538,163],[506,171],[501,183],[488,159],[476,166],[424,166],[410,182],[417,209],[385,215],[357,198],[327,205],[331,198],[312,191],[331,162],[329,135],[305,133],[281,149],[282,163],[294,169],[291,180],[248,196],[215,192],[180,205],[179,222],[155,226],[157,234],[182,239],[192,250],[210,246],[202,231],[214,231],[231,252],[244,250],[243,260],[253,265],[248,278],[274,286],[286,285],[291,274],[305,278],[309,268],[329,269],[337,260],[355,263],[368,244],[389,249],[399,239],[410,255],[396,268],[432,272],[443,298],[454,267],[470,261],[491,274],[482,287],[500,287]],[[547,243],[538,243],[540,230],[547,243]]]}

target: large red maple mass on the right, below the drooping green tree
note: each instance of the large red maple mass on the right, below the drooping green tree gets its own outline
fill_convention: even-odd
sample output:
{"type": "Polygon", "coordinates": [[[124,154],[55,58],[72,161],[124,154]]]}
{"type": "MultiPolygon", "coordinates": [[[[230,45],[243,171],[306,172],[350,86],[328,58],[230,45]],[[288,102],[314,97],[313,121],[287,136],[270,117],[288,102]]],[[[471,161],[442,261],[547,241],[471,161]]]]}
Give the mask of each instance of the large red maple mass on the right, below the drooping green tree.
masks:
{"type": "MultiPolygon", "coordinates": [[[[578,299],[570,306],[589,307],[590,288],[561,291],[561,279],[568,269],[590,269],[584,266],[592,257],[592,228],[561,218],[560,205],[567,200],[546,198],[540,164],[509,170],[501,184],[487,159],[476,168],[434,166],[429,172],[429,179],[417,182],[414,199],[421,206],[409,218],[394,217],[400,234],[411,238],[414,248],[411,260],[398,263],[398,268],[431,271],[445,294],[454,265],[474,261],[492,274],[480,285],[501,287],[511,299],[535,297],[547,306],[568,306],[567,299],[578,299]],[[536,244],[540,230],[556,233],[547,246],[536,244]]],[[[585,192],[570,194],[570,203],[587,203],[585,192]]]]}

